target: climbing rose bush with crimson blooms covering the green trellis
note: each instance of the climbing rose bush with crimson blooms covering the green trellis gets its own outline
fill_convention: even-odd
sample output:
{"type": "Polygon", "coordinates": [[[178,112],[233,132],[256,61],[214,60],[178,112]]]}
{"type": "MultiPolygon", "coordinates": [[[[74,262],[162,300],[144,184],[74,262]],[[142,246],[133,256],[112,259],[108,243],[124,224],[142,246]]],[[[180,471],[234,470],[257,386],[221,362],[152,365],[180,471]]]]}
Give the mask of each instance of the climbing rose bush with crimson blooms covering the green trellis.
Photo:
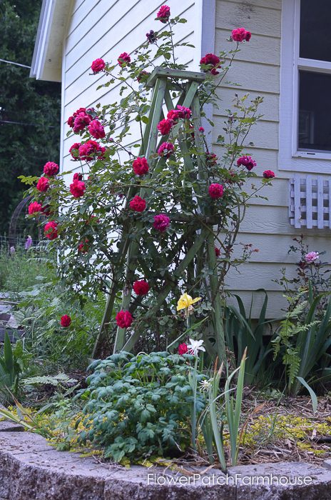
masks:
{"type": "Polygon", "coordinates": [[[93,108],[83,102],[71,110],[67,119],[71,162],[65,169],[73,172],[59,173],[58,165],[49,161],[39,178],[23,178],[34,196],[29,216],[39,218],[45,238],[58,249],[59,277],[83,297],[96,297],[100,291],[111,294],[115,284],[111,334],[115,336],[117,327],[144,331],[151,339],[151,344],[150,340],[140,344],[146,350],[155,343],[165,346],[174,331],[185,327],[185,315],[174,314],[179,288],[199,297],[194,309],[197,318],[213,310],[215,304],[203,284],[215,276],[223,291],[230,267],[248,259],[248,246],[234,257],[235,238],[248,201],[260,196],[258,191],[275,176],[269,170],[262,174],[263,166],[248,154],[245,144],[250,127],[260,117],[260,97],[236,96],[234,108],[223,110],[226,118],[221,135],[215,138],[215,150],[205,132],[208,118],[203,106],[218,100],[218,86],[228,79],[235,55],[249,41],[250,32],[233,30],[234,49],[232,43],[228,52],[208,53],[200,59],[205,80],[198,83],[198,97],[205,123],[192,104],[178,100],[182,89],[174,86],[168,109],[163,108],[164,114],[149,129],[152,89],[148,79],[153,61],[161,69],[183,71],[186,66],[174,51],[180,46],[189,49],[185,41],[173,44],[173,30],[180,29],[185,19],[171,17],[168,6],[161,6],[152,22],[154,29],[136,51],[123,51],[116,61],[91,62],[90,78],[98,81],[98,88],[117,87],[121,99],[93,108]],[[153,151],[146,150],[151,137],[157,144],[153,151]],[[213,264],[205,257],[210,252],[193,252],[206,226],[213,264]],[[129,254],[128,266],[132,241],[137,247],[129,254]],[[180,267],[191,254],[190,265],[180,267]],[[167,287],[169,293],[158,302],[167,287]],[[146,316],[150,309],[153,315],[146,316]]]}

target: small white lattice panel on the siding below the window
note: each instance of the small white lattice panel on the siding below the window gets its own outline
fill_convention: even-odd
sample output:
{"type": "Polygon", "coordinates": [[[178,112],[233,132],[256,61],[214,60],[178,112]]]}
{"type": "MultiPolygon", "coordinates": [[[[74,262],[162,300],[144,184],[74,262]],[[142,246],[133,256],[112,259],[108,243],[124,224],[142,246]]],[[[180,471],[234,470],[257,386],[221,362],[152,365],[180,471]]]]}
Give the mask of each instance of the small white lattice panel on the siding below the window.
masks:
{"type": "Polygon", "coordinates": [[[300,228],[331,229],[331,179],[295,176],[290,179],[290,223],[300,228]]]}

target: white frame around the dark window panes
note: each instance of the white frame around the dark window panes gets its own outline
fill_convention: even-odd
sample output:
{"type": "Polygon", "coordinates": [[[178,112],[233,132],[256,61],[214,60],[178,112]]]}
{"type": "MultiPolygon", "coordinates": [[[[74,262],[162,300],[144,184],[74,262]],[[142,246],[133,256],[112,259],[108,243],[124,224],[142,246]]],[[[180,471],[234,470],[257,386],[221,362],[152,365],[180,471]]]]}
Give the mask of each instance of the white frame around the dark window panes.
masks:
{"type": "MultiPolygon", "coordinates": [[[[331,6],[331,4],[330,4],[331,6]]],[[[304,59],[300,48],[300,0],[282,0],[280,58],[280,170],[331,174],[331,151],[298,151],[299,70],[331,74],[331,62],[304,59]]]]}

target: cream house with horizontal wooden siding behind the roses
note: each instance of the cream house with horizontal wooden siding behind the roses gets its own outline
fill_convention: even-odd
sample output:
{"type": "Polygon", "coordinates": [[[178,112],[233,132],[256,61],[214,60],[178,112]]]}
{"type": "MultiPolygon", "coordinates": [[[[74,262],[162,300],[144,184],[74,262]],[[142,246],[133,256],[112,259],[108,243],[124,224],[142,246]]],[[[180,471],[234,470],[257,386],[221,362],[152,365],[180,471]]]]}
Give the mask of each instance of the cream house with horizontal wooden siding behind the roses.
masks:
{"type": "MultiPolygon", "coordinates": [[[[246,304],[253,290],[266,289],[268,316],[278,316],[284,299],[272,280],[284,264],[294,272],[295,256],[287,254],[292,238],[305,234],[310,250],[326,250],[331,259],[330,0],[44,0],[31,76],[62,83],[62,169],[70,168],[68,116],[81,106],[116,100],[116,89],[96,91],[101,76],[88,76],[91,61],[133,52],[147,31],[159,29],[154,18],[163,4],[188,19],[180,39],[195,45],[182,49],[190,69],[198,69],[207,52],[227,49],[232,29],[252,33],[229,75],[241,86],[224,84],[223,106],[210,112],[215,141],[235,92],[264,98],[264,116],[247,151],[258,173],[271,169],[276,178],[265,190],[268,201],[251,204],[239,238],[260,251],[228,281],[246,304]]],[[[255,311],[259,307],[258,299],[255,311]]]]}

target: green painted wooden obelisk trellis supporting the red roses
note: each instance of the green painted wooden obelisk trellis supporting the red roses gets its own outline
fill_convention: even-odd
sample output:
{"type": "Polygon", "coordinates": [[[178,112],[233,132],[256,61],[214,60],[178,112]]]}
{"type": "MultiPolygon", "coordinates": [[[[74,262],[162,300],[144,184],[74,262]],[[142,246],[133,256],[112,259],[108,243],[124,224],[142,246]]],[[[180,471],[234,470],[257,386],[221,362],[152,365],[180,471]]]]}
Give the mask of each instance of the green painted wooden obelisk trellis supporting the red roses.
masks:
{"type": "MultiPolygon", "coordinates": [[[[199,131],[201,126],[201,116],[198,87],[204,80],[205,74],[203,73],[164,68],[156,68],[149,77],[147,86],[153,88],[153,96],[151,100],[151,109],[148,123],[146,124],[146,129],[143,134],[139,156],[145,156],[148,160],[148,164],[150,166],[148,176],[150,180],[153,179],[153,176],[159,171],[159,169],[163,168],[164,160],[156,158],[156,151],[159,146],[157,125],[159,121],[164,118],[163,106],[165,106],[168,111],[170,111],[171,109],[175,109],[175,105],[173,104],[170,92],[176,91],[176,95],[178,96],[177,104],[188,107],[192,111],[192,120],[194,127],[193,140],[195,143],[195,150],[198,152],[195,157],[195,160],[198,164],[198,173],[196,175],[199,177],[199,179],[208,181],[205,169],[203,169],[203,162],[201,158],[202,154],[204,154],[204,144],[199,131]]],[[[179,131],[180,126],[180,123],[178,123],[173,127],[174,135],[176,135],[176,133],[179,131]]],[[[163,136],[160,144],[166,140],[167,136],[163,136]]],[[[178,137],[178,145],[183,155],[185,169],[190,172],[193,169],[193,163],[188,155],[188,146],[186,144],[186,141],[183,138],[178,137]]],[[[140,191],[137,193],[137,189],[131,187],[130,191],[128,192],[127,199],[130,200],[132,196],[136,194],[143,198],[148,189],[150,188],[141,186],[140,191]]],[[[220,357],[220,359],[225,359],[222,304],[220,299],[220,292],[218,289],[218,276],[215,271],[217,263],[215,256],[215,235],[213,233],[213,224],[215,224],[216,221],[213,219],[212,214],[208,213],[208,210],[203,208],[203,206],[200,207],[200,211],[200,226],[197,227],[195,234],[193,235],[186,235],[185,233],[183,234],[176,248],[173,249],[173,255],[175,255],[175,252],[178,251],[178,246],[180,246],[180,243],[183,245],[186,238],[190,242],[190,249],[188,249],[187,253],[185,254],[185,256],[183,256],[183,259],[181,259],[180,263],[175,269],[171,269],[171,271],[170,269],[168,269],[168,283],[165,283],[163,288],[159,291],[156,298],[156,303],[148,309],[148,311],[144,315],[144,320],[146,321],[146,319],[152,318],[153,315],[157,313],[161,305],[165,303],[168,295],[170,294],[170,291],[178,284],[178,281],[183,276],[185,270],[192,276],[194,275],[194,273],[198,274],[199,271],[201,271],[201,269],[195,270],[197,264],[194,263],[194,260],[195,257],[199,254],[200,256],[205,255],[206,261],[208,262],[208,269],[210,271],[208,288],[210,289],[210,301],[213,306],[209,331],[207,331],[205,336],[213,336],[213,339],[215,339],[215,346],[218,356],[220,357]]],[[[185,221],[185,218],[182,217],[182,220],[185,221]]],[[[126,269],[127,286],[123,290],[121,309],[134,312],[136,307],[139,305],[139,298],[131,303],[130,284],[132,284],[133,282],[137,265],[139,263],[141,264],[138,255],[138,235],[142,228],[142,223],[140,221],[136,222],[136,226],[134,227],[134,234],[136,236],[134,237],[132,237],[132,231],[130,237],[130,229],[132,230],[132,227],[129,228],[129,224],[130,223],[128,221],[124,221],[123,223],[121,242],[118,245],[118,254],[119,256],[121,256],[121,264],[117,266],[117,269],[114,272],[111,289],[108,294],[106,309],[103,314],[101,329],[98,334],[98,338],[96,339],[96,344],[93,350],[93,357],[101,356],[103,354],[103,344],[108,334],[110,321],[113,316],[113,308],[116,301],[116,296],[118,296],[118,292],[120,291],[118,290],[118,281],[121,279],[123,269],[126,269]]],[[[156,249],[151,246],[151,251],[156,252],[156,249]]],[[[168,260],[170,266],[171,259],[168,260]]],[[[122,349],[131,351],[140,335],[140,329],[135,329],[131,336],[126,338],[126,329],[121,329],[120,327],[118,327],[116,331],[116,339],[113,346],[114,352],[120,351],[122,349]]],[[[207,349],[209,350],[210,354],[214,354],[215,351],[210,348],[211,344],[209,343],[209,339],[206,340],[208,340],[208,342],[206,343],[207,349]]]]}

